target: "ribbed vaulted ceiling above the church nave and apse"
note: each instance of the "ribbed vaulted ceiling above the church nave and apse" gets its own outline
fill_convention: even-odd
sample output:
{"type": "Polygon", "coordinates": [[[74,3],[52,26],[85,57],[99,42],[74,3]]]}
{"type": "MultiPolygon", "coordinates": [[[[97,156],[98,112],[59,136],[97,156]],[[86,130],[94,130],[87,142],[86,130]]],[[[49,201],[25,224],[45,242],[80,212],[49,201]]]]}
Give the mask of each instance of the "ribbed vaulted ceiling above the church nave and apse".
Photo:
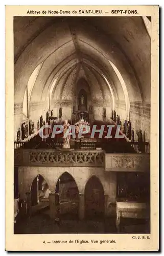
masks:
{"type": "Polygon", "coordinates": [[[31,102],[72,100],[85,78],[93,99],[150,102],[151,38],[142,17],[15,17],[14,101],[22,103],[33,71],[41,65],[31,102]],[[104,78],[105,77],[105,78],[104,78]]]}

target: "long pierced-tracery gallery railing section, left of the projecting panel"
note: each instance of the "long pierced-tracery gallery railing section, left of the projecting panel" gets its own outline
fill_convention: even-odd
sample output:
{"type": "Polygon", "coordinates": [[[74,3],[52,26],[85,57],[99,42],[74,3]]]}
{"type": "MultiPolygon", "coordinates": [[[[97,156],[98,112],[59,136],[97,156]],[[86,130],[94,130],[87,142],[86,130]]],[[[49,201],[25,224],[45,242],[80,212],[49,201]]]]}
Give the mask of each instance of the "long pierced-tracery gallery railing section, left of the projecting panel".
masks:
{"type": "Polygon", "coordinates": [[[28,150],[14,151],[14,165],[18,166],[104,166],[102,150],[28,150]]]}

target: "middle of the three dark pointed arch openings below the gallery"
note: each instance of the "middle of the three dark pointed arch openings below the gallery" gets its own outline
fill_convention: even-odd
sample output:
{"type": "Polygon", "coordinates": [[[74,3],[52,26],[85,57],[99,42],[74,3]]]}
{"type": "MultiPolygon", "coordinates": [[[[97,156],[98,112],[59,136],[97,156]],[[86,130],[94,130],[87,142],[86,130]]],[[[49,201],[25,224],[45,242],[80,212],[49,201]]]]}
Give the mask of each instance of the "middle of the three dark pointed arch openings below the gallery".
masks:
{"type": "Polygon", "coordinates": [[[77,219],[79,217],[79,190],[74,178],[63,173],[56,184],[57,214],[61,219],[77,219]]]}

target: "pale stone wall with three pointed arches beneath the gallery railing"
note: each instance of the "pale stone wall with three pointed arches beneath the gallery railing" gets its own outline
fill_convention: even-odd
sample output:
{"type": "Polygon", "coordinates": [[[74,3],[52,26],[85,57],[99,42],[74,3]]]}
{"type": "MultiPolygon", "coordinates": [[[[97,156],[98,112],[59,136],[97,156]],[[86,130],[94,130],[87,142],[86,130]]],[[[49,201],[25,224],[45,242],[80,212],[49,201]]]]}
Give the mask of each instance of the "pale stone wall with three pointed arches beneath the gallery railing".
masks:
{"type": "Polygon", "coordinates": [[[19,193],[20,197],[26,199],[26,193],[30,191],[35,177],[40,174],[46,180],[51,192],[56,188],[57,181],[63,173],[69,173],[74,178],[79,194],[85,194],[85,186],[89,178],[95,175],[103,185],[105,195],[105,212],[111,214],[111,203],[116,200],[116,173],[105,172],[101,167],[29,167],[20,166],[18,168],[19,193]]]}

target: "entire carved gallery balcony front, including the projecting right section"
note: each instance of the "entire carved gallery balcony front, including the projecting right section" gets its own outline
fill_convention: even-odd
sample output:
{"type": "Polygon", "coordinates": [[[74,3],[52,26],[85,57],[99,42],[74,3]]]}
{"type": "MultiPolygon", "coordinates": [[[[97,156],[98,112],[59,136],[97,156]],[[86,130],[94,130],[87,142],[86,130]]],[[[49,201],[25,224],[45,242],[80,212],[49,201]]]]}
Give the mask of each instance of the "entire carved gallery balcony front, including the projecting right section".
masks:
{"type": "Polygon", "coordinates": [[[149,172],[150,154],[105,153],[103,150],[47,150],[19,148],[15,166],[104,167],[110,172],[149,172]]]}

